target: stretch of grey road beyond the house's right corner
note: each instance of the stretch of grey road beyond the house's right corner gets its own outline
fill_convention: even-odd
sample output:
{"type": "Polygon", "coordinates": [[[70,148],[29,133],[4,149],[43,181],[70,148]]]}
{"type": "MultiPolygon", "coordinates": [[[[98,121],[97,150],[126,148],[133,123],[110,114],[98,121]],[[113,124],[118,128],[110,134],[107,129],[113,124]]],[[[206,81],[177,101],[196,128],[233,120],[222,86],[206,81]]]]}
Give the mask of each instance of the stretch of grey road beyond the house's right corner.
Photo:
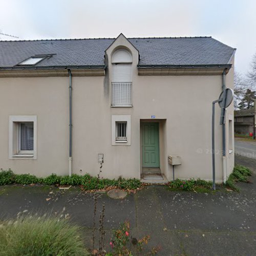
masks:
{"type": "Polygon", "coordinates": [[[234,152],[238,155],[256,159],[256,141],[234,140],[234,152]]]}

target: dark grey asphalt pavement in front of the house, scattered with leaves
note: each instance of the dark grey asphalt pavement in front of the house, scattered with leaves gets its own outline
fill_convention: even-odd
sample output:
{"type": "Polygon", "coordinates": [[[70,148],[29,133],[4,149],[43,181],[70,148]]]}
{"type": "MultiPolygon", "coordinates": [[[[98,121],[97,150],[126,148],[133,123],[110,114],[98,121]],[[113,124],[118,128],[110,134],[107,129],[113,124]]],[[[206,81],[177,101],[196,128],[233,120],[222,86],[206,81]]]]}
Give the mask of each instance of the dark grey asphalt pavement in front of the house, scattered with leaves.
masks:
{"type": "MultiPolygon", "coordinates": [[[[149,234],[150,245],[161,246],[158,255],[256,255],[256,160],[237,156],[236,161],[254,169],[252,183],[239,184],[241,193],[174,192],[149,186],[123,200],[99,194],[97,215],[105,202],[105,244],[111,229],[129,220],[133,237],[149,234]]],[[[0,187],[2,218],[15,218],[24,210],[60,215],[65,207],[64,213],[84,227],[88,247],[92,245],[93,204],[93,194],[79,189],[0,187]]]]}

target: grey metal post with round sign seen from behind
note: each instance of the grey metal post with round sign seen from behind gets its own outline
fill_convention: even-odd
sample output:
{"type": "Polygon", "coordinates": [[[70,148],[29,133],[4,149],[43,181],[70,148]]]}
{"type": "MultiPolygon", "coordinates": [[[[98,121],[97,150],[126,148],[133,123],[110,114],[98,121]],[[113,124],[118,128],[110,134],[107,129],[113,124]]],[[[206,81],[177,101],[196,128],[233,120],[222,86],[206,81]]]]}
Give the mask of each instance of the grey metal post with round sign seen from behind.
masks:
{"type": "MultiPolygon", "coordinates": [[[[212,115],[211,115],[211,156],[212,156],[212,189],[216,189],[215,186],[215,103],[219,103],[222,108],[221,124],[225,120],[225,110],[233,101],[233,90],[230,88],[225,89],[219,99],[212,101],[212,115]],[[225,97],[225,98],[224,98],[225,97]]],[[[224,139],[224,138],[223,138],[224,139]]]]}

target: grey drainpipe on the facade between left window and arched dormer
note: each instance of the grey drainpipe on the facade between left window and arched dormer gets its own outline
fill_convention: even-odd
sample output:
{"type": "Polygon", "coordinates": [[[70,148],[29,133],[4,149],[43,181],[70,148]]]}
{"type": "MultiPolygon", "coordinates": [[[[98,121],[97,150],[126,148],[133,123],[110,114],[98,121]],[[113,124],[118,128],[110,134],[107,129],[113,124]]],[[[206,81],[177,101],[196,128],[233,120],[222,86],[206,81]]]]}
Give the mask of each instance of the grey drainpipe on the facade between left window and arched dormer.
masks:
{"type": "Polygon", "coordinates": [[[69,71],[69,176],[72,174],[72,74],[69,71]]]}

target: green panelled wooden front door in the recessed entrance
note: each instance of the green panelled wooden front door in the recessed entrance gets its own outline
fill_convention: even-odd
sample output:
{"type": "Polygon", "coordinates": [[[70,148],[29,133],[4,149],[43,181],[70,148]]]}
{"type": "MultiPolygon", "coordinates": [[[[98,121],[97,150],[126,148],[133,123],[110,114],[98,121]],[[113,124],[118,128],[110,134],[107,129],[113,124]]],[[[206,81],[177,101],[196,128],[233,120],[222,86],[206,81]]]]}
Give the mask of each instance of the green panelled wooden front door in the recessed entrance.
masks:
{"type": "Polygon", "coordinates": [[[142,123],[142,167],[159,167],[158,123],[142,123]]]}

